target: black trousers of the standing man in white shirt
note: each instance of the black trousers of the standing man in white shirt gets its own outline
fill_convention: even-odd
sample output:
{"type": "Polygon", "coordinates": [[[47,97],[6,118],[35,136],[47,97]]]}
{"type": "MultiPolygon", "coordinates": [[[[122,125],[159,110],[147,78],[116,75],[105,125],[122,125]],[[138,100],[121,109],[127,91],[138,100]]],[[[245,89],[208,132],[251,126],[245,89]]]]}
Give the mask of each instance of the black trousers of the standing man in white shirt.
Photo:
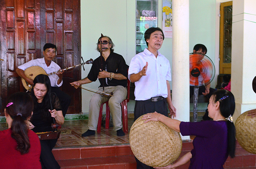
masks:
{"type": "MultiPolygon", "coordinates": [[[[139,118],[140,116],[147,114],[147,113],[154,113],[154,112],[164,114],[165,116],[168,116],[167,112],[167,101],[166,99],[152,102],[152,101],[137,101],[135,103],[134,108],[134,121],[139,118]]],[[[143,164],[141,161],[139,161],[136,157],[137,162],[137,169],[154,169],[153,167],[147,166],[146,164],[143,164]]]]}

